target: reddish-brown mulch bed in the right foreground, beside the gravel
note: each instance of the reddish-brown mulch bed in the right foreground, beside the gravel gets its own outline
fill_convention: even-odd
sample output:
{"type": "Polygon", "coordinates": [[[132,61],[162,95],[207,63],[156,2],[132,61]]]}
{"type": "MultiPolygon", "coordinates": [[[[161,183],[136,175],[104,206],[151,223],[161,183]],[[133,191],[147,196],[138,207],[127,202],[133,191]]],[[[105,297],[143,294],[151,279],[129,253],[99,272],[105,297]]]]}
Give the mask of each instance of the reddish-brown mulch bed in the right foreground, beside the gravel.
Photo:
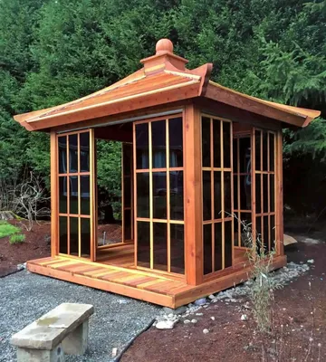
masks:
{"type": "Polygon", "coordinates": [[[287,254],[293,262],[314,259],[315,267],[276,291],[275,330],[264,338],[264,357],[262,338],[254,333],[254,318],[243,307],[243,300],[228,305],[217,302],[198,310],[204,315],[192,317],[198,320],[195,325],[179,322],[175,329],[150,328],[135,340],[121,362],[326,361],[326,244],[295,244],[287,254]],[[248,316],[247,321],[240,319],[242,314],[248,316]],[[282,352],[275,353],[275,346],[282,352]]]}

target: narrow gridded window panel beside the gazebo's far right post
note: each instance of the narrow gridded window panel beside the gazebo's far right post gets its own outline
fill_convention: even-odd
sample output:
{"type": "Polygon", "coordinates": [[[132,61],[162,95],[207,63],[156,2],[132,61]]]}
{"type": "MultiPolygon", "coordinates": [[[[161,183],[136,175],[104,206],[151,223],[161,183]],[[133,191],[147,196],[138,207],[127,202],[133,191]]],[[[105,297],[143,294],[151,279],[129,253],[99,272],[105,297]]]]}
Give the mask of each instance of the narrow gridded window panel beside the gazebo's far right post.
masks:
{"type": "MultiPolygon", "coordinates": [[[[265,251],[275,248],[275,150],[272,131],[254,129],[254,190],[256,239],[265,251]]],[[[257,245],[257,251],[259,247],[257,245]]]]}

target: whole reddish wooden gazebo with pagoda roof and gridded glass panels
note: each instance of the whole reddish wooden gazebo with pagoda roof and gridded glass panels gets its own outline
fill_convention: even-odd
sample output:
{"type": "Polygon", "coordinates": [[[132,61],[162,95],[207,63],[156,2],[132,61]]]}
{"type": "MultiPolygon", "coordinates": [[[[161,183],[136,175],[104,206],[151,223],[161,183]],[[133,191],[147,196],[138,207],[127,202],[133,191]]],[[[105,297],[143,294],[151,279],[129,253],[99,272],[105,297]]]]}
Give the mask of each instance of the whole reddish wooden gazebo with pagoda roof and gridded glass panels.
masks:
{"type": "Polygon", "coordinates": [[[15,116],[51,135],[51,257],[29,271],[177,308],[248,278],[245,233],[283,252],[282,129],[319,116],[188,70],[168,39],[129,77],[15,116]],[[121,238],[99,232],[97,139],[122,142],[121,238]],[[100,241],[100,242],[99,242],[100,241]]]}

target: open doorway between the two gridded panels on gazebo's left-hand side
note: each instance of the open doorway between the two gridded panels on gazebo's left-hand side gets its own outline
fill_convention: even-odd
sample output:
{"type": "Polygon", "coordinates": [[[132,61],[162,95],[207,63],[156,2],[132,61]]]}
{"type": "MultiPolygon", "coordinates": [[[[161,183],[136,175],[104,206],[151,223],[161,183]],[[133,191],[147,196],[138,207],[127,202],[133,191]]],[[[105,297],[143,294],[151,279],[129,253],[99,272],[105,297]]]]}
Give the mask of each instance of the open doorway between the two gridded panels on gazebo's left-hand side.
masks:
{"type": "Polygon", "coordinates": [[[95,129],[94,137],[96,260],[110,262],[122,251],[133,265],[132,125],[95,129]]]}

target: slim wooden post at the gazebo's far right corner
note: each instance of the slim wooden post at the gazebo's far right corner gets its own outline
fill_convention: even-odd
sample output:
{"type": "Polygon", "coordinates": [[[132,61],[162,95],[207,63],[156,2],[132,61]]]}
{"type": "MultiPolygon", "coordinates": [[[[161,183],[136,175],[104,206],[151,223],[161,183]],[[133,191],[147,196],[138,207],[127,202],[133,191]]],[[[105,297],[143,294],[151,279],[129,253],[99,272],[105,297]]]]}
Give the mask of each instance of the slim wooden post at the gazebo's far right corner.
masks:
{"type": "Polygon", "coordinates": [[[276,134],[276,252],[284,254],[283,244],[283,133],[276,134]]]}

